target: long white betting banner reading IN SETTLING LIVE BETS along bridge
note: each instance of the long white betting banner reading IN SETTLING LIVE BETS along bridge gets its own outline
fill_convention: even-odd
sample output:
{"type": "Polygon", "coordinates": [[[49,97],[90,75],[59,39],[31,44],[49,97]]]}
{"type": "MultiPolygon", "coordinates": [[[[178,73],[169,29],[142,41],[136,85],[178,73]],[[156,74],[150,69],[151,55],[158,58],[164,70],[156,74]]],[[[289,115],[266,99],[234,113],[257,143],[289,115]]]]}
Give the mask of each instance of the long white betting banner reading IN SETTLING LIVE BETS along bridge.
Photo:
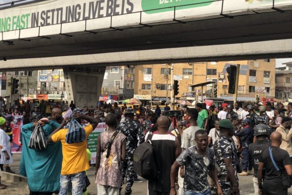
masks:
{"type": "MultiPolygon", "coordinates": [[[[222,3],[222,0],[44,0],[0,10],[0,32],[5,32],[0,40],[220,18],[221,11],[238,15],[273,7],[273,0],[224,0],[223,9],[222,3]]],[[[274,0],[275,7],[291,4],[291,0],[274,0]]]]}

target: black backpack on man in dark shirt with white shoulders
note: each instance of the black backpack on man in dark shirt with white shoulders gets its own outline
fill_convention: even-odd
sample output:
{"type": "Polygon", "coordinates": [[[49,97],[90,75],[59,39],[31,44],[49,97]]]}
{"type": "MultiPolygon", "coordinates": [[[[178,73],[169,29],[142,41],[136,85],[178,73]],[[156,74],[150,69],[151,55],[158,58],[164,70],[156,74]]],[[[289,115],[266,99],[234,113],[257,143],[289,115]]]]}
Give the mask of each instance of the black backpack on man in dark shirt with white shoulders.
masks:
{"type": "Polygon", "coordinates": [[[155,152],[151,143],[152,135],[149,134],[147,140],[140,144],[134,152],[134,171],[147,180],[158,178],[155,152]]]}

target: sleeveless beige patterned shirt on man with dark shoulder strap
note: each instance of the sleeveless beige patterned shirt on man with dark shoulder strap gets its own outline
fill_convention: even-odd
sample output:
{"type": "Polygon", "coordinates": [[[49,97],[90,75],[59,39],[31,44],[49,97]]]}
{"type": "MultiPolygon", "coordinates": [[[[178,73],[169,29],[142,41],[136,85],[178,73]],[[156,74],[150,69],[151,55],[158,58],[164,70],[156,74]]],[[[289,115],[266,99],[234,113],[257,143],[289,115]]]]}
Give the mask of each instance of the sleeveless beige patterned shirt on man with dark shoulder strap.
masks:
{"type": "MultiPolygon", "coordinates": [[[[114,132],[105,131],[100,135],[100,147],[103,149],[105,145],[110,141],[114,132]]],[[[95,183],[104,186],[111,186],[120,188],[123,180],[122,176],[122,160],[121,160],[121,148],[122,143],[126,136],[119,133],[114,139],[111,148],[110,156],[107,158],[108,150],[101,153],[100,165],[96,175],[95,183]]]]}

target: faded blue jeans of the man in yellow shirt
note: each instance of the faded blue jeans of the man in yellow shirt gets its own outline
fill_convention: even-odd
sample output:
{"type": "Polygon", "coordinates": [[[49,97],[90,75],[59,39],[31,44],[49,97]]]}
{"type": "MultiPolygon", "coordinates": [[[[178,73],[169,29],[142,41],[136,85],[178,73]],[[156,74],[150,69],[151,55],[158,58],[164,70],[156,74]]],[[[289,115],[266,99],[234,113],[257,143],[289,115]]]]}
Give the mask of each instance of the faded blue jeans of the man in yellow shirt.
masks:
{"type": "Polygon", "coordinates": [[[60,193],[59,195],[69,195],[72,191],[72,195],[82,195],[83,189],[85,189],[85,171],[70,174],[60,175],[60,193]]]}

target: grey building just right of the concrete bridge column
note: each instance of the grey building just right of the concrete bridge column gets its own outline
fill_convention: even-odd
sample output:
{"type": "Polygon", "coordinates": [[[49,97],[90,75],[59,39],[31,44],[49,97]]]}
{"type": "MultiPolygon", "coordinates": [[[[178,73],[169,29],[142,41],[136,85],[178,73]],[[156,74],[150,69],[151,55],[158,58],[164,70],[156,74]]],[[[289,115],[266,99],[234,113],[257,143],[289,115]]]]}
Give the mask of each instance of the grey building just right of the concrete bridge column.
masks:
{"type": "Polygon", "coordinates": [[[107,67],[102,83],[103,96],[117,96],[119,100],[133,98],[134,67],[107,67]]]}

